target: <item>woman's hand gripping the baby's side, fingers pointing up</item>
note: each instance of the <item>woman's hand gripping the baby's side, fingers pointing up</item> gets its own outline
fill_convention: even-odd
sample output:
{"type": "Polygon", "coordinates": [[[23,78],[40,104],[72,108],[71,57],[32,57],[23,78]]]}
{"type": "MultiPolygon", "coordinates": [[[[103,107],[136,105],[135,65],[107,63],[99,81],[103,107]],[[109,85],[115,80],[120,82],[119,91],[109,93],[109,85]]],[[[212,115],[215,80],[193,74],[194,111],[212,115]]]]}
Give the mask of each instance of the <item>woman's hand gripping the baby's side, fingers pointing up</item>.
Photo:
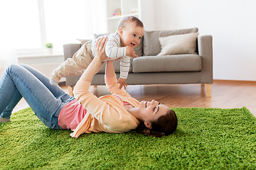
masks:
{"type": "Polygon", "coordinates": [[[106,44],[107,44],[107,36],[99,38],[96,42],[95,59],[99,60],[100,62],[110,59],[109,57],[107,57],[105,52],[106,44]]]}

